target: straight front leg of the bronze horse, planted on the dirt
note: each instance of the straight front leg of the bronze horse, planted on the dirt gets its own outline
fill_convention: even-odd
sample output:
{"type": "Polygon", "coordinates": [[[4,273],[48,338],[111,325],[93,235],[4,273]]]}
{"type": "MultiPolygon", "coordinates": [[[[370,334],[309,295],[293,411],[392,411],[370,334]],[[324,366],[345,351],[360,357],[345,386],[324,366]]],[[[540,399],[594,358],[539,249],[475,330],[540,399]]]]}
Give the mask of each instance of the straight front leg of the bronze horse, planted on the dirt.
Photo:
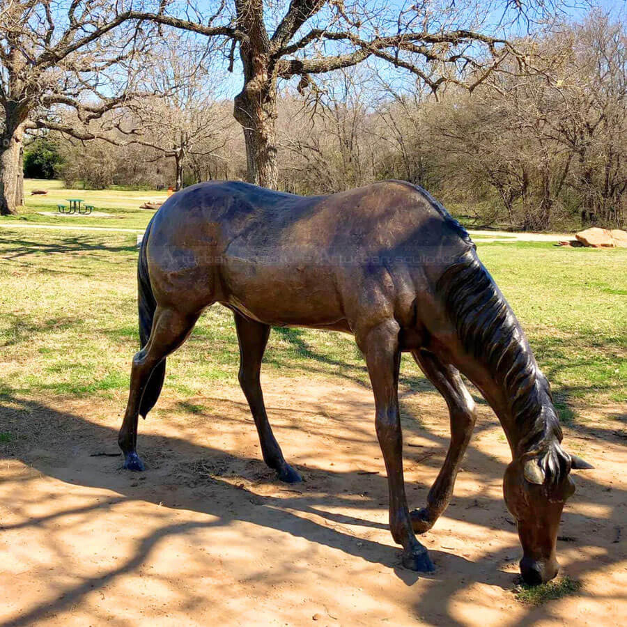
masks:
{"type": "Polygon", "coordinates": [[[435,568],[426,548],[416,539],[405,496],[403,436],[398,410],[398,369],[401,362],[398,330],[395,320],[387,320],[364,334],[357,334],[357,344],[366,358],[375,398],[377,438],[387,471],[392,537],[396,543],[403,545],[405,568],[431,573],[435,568]]]}

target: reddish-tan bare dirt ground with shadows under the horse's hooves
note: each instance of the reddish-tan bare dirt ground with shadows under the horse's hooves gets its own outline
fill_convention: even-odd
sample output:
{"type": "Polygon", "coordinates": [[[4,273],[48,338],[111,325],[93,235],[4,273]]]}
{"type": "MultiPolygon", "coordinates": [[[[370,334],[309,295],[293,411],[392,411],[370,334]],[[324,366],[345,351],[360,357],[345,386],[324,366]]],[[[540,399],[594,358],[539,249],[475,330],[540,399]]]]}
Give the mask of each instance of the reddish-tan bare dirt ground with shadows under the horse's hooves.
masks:
{"type": "MultiPolygon", "coordinates": [[[[454,500],[421,536],[437,567],[423,576],[400,566],[387,527],[370,390],[302,378],[266,378],[264,390],[306,479],[297,486],[263,465],[238,387],[187,403],[166,393],[141,421],[139,474],[117,456],[125,399],[1,401],[3,431],[28,439],[0,449],[0,624],[625,624],[627,451],[611,415],[566,430],[568,448],[596,465],[575,477],[558,543],[562,573],[582,587],[530,607],[513,592],[509,449],[484,405],[454,500]]],[[[447,412],[433,394],[402,400],[408,497],[420,506],[444,458],[447,412]]]]}

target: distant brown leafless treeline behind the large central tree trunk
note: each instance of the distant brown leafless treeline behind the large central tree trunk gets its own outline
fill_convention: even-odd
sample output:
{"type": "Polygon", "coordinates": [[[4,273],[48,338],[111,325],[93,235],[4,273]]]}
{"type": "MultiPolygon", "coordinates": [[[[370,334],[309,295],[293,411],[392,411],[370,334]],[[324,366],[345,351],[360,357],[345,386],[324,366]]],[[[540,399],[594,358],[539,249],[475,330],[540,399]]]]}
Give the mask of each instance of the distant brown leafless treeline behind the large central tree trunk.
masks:
{"type": "MultiPolygon", "coordinates": [[[[449,86],[436,99],[363,68],[327,77],[306,100],[284,93],[279,187],[325,194],[398,178],[426,187],[474,224],[624,226],[625,24],[594,15],[534,46],[549,60],[542,71],[519,72],[512,61],[470,94],[449,86]]],[[[25,176],[96,188],[245,178],[230,104],[205,99],[196,106],[178,116],[148,105],[141,115],[129,112],[126,126],[144,128],[141,143],[122,135],[117,144],[78,143],[50,133],[26,147],[25,176]],[[169,134],[159,125],[164,119],[169,134]]],[[[111,127],[106,117],[102,123],[111,127]]]]}

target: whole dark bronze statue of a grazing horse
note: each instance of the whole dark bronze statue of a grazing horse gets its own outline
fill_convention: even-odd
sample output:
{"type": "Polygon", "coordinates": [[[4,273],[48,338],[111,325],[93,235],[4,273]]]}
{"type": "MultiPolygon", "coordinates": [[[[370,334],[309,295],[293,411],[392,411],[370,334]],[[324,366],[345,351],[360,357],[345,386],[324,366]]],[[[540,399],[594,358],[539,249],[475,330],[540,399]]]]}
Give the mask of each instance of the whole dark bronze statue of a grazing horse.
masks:
{"type": "Polygon", "coordinates": [[[548,380],[518,320],[483,267],[466,231],[424,189],[383,181],[330,196],[302,197],[247,183],[187,187],[148,224],[139,254],[139,331],[119,444],[137,456],[138,416],[160,394],[167,355],[202,311],[233,311],[239,380],[263,459],[281,481],[300,481],[281,452],[259,382],[270,327],[353,334],[376,403],[376,433],[389,484],[389,525],[415,571],[433,564],[415,534],[446,509],[475,421],[460,373],[477,386],[504,428],[513,461],[504,497],[522,543],[527,582],[555,577],[555,543],[569,472],[591,467],[562,449],[548,380]],[[398,412],[401,351],[412,353],[447,401],[451,442],[424,508],[411,511],[403,482],[398,412]]]}

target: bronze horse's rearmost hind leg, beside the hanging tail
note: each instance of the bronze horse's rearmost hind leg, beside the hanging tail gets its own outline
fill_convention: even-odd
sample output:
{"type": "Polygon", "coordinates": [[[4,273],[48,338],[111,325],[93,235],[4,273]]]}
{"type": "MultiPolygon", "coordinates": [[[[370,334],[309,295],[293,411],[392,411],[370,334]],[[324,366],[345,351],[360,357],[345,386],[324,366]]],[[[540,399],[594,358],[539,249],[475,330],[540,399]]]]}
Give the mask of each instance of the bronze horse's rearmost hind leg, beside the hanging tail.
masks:
{"type": "Polygon", "coordinates": [[[190,316],[175,309],[157,307],[148,342],[133,357],[128,403],[118,435],[127,470],[144,470],[144,463],[137,455],[137,422],[148,380],[162,360],[187,339],[196,320],[196,314],[190,316]]]}

